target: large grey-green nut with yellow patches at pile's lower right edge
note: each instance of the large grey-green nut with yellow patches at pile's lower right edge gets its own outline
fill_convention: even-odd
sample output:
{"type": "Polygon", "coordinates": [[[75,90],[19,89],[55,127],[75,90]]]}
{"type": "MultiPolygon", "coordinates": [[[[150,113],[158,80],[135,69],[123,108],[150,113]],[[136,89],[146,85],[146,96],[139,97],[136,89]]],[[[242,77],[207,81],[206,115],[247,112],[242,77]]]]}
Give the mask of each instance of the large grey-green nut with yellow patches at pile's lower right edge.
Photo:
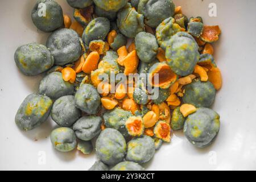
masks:
{"type": "Polygon", "coordinates": [[[220,130],[220,115],[215,111],[201,107],[190,114],[185,121],[185,137],[196,147],[206,147],[212,143],[220,130]]]}

